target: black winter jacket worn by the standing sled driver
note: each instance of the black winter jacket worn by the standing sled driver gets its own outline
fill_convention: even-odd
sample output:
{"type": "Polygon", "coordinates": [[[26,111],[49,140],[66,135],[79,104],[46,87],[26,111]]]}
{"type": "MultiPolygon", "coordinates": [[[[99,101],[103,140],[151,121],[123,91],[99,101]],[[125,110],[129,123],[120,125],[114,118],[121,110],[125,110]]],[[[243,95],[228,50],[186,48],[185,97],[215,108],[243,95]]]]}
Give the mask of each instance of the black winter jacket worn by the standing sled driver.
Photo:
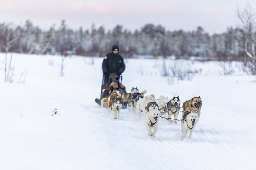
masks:
{"type": "Polygon", "coordinates": [[[120,75],[125,70],[123,57],[113,52],[107,54],[102,63],[102,70],[105,77],[109,77],[111,73],[116,73],[118,78],[120,78],[120,75]]]}

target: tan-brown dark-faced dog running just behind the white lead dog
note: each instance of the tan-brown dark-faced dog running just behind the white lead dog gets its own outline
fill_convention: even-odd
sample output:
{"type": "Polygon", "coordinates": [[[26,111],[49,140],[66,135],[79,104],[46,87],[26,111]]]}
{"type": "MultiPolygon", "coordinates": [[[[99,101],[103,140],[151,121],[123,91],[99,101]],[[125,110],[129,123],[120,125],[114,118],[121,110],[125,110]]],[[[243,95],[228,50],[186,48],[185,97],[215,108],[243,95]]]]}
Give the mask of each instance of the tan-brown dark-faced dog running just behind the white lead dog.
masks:
{"type": "Polygon", "coordinates": [[[200,96],[194,97],[183,103],[183,113],[185,111],[197,112],[198,117],[200,117],[201,107],[202,107],[202,100],[200,96]]]}

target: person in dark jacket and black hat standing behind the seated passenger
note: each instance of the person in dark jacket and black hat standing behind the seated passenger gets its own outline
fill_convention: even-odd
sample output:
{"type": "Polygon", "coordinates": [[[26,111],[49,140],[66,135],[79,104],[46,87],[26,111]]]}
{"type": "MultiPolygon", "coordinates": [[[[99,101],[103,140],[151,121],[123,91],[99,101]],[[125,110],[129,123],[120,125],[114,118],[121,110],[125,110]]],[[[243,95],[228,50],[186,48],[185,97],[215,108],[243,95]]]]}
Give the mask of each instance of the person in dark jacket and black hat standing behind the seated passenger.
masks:
{"type": "MultiPolygon", "coordinates": [[[[125,64],[123,57],[119,54],[119,46],[113,45],[112,52],[108,53],[103,60],[102,63],[102,71],[103,71],[103,80],[102,85],[109,81],[109,76],[111,73],[115,73],[117,77],[117,81],[120,80],[120,75],[125,70],[125,64]]],[[[100,105],[100,101],[102,99],[102,91],[101,91],[101,98],[95,99],[95,101],[100,105]]]]}

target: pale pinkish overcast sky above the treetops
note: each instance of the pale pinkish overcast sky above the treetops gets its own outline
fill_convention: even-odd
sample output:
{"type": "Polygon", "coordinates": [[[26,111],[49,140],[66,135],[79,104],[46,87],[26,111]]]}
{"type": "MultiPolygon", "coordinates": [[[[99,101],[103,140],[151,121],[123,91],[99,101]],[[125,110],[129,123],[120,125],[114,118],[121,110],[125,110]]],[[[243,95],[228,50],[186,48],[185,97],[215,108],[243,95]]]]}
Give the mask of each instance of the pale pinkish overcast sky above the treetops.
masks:
{"type": "Polygon", "coordinates": [[[247,1],[256,10],[256,0],[0,0],[0,23],[24,24],[29,19],[42,29],[60,25],[70,28],[117,24],[134,31],[147,23],[166,30],[195,30],[202,26],[210,34],[238,26],[235,9],[247,1]]]}

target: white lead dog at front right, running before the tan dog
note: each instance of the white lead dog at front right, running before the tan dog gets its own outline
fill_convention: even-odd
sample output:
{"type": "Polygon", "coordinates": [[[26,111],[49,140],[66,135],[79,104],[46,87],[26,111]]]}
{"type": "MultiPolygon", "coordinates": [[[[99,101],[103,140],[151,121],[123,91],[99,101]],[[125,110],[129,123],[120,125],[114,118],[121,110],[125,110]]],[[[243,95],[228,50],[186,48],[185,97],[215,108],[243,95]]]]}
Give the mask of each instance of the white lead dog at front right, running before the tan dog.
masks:
{"type": "Polygon", "coordinates": [[[183,133],[182,138],[186,136],[187,131],[190,129],[190,133],[188,136],[188,138],[190,139],[198,120],[199,120],[199,116],[196,112],[193,112],[193,111],[184,112],[181,120],[181,127],[182,127],[182,133],[183,133]]]}

